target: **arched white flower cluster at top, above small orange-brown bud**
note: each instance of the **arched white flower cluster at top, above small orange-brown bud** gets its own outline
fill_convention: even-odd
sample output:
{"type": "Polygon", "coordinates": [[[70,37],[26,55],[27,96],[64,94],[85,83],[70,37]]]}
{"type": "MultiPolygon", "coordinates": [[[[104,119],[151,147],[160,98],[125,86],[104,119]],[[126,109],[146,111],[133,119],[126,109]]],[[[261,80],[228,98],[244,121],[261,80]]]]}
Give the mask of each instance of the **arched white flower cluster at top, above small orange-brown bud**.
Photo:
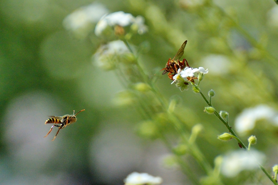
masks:
{"type": "Polygon", "coordinates": [[[148,31],[148,27],[144,22],[145,20],[142,16],[138,15],[137,17],[134,17],[132,14],[124,13],[123,11],[106,14],[97,23],[95,27],[95,35],[100,36],[108,26],[114,27],[116,25],[121,27],[131,25],[131,28],[141,35],[148,31]]]}

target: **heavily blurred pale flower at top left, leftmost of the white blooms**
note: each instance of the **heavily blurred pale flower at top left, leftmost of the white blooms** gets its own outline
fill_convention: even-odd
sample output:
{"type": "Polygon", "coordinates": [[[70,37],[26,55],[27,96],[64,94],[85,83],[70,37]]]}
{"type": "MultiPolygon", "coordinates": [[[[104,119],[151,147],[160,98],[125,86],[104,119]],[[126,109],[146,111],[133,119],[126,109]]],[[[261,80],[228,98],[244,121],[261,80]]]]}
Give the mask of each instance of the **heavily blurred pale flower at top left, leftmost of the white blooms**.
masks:
{"type": "Polygon", "coordinates": [[[92,3],[67,15],[63,20],[63,25],[66,30],[79,35],[87,35],[93,30],[94,24],[107,13],[108,10],[102,4],[92,3]]]}

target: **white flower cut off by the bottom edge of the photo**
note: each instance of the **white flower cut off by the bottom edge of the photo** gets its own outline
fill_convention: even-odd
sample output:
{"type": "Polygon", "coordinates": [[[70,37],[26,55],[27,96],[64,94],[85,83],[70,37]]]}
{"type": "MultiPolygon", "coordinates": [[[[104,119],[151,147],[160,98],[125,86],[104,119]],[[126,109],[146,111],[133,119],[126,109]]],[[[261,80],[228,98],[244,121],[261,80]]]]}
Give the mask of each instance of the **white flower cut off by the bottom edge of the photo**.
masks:
{"type": "Polygon", "coordinates": [[[162,179],[147,173],[133,172],[124,179],[124,183],[125,185],[160,184],[162,183],[162,179]]]}

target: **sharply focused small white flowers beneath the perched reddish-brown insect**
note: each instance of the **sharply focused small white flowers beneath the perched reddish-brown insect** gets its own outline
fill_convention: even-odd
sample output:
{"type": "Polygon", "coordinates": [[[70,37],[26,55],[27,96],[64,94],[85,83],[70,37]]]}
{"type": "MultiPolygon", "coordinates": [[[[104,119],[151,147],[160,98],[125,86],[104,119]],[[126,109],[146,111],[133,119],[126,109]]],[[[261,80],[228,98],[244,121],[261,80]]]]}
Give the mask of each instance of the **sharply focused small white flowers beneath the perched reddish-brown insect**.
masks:
{"type": "Polygon", "coordinates": [[[173,77],[174,81],[171,83],[175,83],[177,80],[179,81],[187,81],[188,82],[188,78],[194,78],[195,75],[194,73],[197,72],[198,73],[198,79],[202,80],[204,74],[208,73],[208,69],[204,69],[203,67],[199,67],[199,68],[184,68],[182,71],[180,69],[178,69],[178,73],[175,74],[175,76],[173,77]]]}

